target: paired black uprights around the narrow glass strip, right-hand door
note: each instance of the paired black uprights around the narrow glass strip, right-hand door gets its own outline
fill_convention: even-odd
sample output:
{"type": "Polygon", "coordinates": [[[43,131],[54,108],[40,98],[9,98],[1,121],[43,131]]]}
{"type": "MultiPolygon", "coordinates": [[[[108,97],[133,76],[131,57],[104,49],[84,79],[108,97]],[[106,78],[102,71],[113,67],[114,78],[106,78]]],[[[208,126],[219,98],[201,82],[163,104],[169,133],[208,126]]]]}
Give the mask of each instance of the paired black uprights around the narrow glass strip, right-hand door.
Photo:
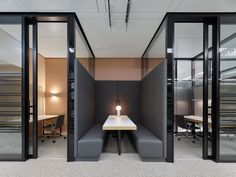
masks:
{"type": "Polygon", "coordinates": [[[202,148],[202,156],[203,159],[212,159],[217,161],[217,117],[219,117],[219,100],[218,100],[218,32],[217,28],[217,17],[206,17],[204,18],[204,26],[203,26],[203,148],[202,148]],[[209,26],[212,26],[212,31],[209,31],[209,26]],[[209,43],[209,34],[212,34],[212,47],[208,46],[209,43]],[[212,51],[212,58],[209,58],[209,51],[212,51]],[[209,61],[212,61],[212,65],[209,66],[209,61]],[[212,118],[212,133],[209,133],[209,122],[208,122],[208,88],[209,88],[209,73],[212,68],[212,105],[211,105],[211,118],[212,118]],[[210,137],[209,137],[210,136],[210,137]],[[208,151],[209,138],[211,138],[211,154],[208,151]]]}

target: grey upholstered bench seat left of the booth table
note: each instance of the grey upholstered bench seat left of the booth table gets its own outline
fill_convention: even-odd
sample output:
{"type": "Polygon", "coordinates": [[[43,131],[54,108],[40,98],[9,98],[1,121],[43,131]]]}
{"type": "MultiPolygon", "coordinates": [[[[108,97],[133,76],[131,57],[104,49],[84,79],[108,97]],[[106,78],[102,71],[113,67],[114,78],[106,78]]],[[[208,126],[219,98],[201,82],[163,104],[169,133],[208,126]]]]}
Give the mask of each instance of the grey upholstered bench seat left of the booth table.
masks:
{"type": "Polygon", "coordinates": [[[78,158],[83,161],[97,161],[102,153],[105,131],[97,123],[78,141],[78,158]]]}

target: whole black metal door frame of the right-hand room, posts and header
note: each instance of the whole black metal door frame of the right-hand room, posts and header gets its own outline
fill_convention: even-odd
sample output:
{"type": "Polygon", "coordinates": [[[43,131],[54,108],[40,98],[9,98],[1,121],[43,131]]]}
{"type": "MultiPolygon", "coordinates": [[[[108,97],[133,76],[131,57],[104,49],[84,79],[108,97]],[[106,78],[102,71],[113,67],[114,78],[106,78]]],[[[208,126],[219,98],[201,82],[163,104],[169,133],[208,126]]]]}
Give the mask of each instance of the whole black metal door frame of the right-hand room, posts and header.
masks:
{"type": "MultiPolygon", "coordinates": [[[[208,53],[208,25],[212,25],[212,155],[208,155],[208,97],[204,97],[204,140],[203,159],[218,161],[219,158],[219,15],[200,13],[169,13],[166,25],[166,58],[167,58],[167,162],[174,162],[174,30],[175,23],[204,24],[204,54],[208,53]],[[206,18],[207,17],[207,18],[206,18]],[[168,52],[171,51],[171,52],[168,52]],[[206,128],[207,127],[207,128],[206,128]]],[[[196,57],[193,57],[196,58],[196,57]]],[[[208,58],[204,58],[204,70],[208,72],[208,58]]],[[[208,95],[208,74],[204,75],[204,94],[208,95]]]]}

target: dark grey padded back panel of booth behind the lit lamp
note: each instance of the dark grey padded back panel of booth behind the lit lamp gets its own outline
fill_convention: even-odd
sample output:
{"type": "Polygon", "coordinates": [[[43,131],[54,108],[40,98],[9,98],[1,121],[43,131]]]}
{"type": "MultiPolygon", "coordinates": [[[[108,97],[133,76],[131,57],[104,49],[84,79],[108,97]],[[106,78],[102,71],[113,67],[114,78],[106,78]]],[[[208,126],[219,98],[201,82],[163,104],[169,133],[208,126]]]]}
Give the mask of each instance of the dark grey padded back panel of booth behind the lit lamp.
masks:
{"type": "Polygon", "coordinates": [[[96,122],[104,123],[108,115],[116,114],[118,88],[121,114],[128,115],[134,122],[140,122],[140,81],[95,81],[96,122]]]}

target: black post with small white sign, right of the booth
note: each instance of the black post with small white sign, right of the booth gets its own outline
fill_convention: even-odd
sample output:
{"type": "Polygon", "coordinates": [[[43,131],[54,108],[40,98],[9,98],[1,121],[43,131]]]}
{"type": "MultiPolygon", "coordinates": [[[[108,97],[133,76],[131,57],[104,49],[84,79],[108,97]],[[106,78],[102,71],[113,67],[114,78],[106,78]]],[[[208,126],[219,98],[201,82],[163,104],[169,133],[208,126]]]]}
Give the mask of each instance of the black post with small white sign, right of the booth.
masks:
{"type": "Polygon", "coordinates": [[[174,21],[166,19],[166,59],[167,59],[167,162],[174,162],[174,21]]]}

